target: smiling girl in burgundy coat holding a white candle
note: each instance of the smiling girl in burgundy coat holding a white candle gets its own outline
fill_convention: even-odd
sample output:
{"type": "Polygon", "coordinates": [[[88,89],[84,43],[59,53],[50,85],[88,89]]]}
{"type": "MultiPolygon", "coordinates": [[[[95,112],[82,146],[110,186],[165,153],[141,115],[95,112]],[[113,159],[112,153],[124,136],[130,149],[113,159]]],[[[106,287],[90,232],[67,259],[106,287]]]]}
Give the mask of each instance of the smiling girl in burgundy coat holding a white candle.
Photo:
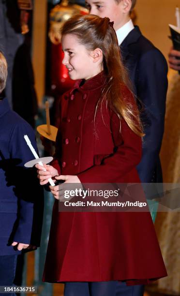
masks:
{"type": "Polygon", "coordinates": [[[65,181],[50,186],[44,281],[65,282],[65,296],[115,296],[118,281],[146,284],[166,275],[150,213],[88,212],[85,200],[81,212],[59,212],[58,199],[67,201],[70,183],[139,183],[143,131],[109,19],[76,15],[61,33],[63,63],[76,82],[60,101],[54,160],[46,172],[36,165],[41,185],[65,181]]]}

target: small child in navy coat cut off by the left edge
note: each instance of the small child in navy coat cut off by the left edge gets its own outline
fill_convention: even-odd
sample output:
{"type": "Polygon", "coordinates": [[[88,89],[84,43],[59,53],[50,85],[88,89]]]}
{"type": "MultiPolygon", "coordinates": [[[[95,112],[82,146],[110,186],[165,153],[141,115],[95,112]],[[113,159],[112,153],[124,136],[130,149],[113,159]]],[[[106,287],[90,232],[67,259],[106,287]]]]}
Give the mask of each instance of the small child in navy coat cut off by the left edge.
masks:
{"type": "Polygon", "coordinates": [[[24,167],[33,158],[24,134],[36,148],[34,132],[3,97],[6,78],[7,62],[0,53],[0,285],[11,286],[17,255],[39,245],[43,195],[34,169],[24,167]]]}

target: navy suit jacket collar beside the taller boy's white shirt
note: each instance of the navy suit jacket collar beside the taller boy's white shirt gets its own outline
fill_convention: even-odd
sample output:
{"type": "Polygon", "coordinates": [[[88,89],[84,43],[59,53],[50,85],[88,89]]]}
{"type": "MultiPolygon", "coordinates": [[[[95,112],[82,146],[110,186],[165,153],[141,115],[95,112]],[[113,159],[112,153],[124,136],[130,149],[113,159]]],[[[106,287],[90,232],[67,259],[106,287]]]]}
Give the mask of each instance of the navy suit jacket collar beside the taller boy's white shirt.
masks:
{"type": "Polygon", "coordinates": [[[131,44],[136,43],[139,38],[142,36],[142,33],[139,29],[138,26],[135,26],[135,29],[133,29],[128,35],[127,37],[124,39],[124,41],[121,43],[120,45],[120,51],[123,57],[123,60],[126,59],[126,57],[129,54],[129,49],[128,46],[131,44]]]}

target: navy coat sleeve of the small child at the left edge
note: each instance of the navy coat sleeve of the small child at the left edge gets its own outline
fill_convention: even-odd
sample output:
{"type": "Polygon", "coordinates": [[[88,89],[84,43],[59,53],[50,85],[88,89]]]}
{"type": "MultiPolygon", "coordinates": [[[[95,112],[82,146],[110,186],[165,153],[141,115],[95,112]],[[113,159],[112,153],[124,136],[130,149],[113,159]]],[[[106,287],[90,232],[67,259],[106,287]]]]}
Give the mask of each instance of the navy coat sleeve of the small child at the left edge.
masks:
{"type": "Polygon", "coordinates": [[[17,221],[13,240],[39,246],[43,222],[44,196],[39,185],[36,169],[28,169],[24,164],[34,158],[26,144],[24,135],[38,153],[35,135],[30,125],[23,121],[15,125],[9,142],[11,159],[15,165],[10,168],[9,180],[17,197],[17,221]]]}

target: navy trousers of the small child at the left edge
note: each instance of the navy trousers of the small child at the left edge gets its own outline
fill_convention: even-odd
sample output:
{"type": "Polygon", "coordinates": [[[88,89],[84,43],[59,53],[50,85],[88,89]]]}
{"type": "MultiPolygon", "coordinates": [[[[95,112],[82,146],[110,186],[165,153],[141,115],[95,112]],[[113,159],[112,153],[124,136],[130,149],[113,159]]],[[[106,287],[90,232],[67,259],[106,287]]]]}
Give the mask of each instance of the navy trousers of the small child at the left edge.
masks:
{"type": "MultiPolygon", "coordinates": [[[[17,255],[0,256],[0,286],[14,286],[17,255]]],[[[15,295],[2,293],[0,296],[15,295]]]]}

